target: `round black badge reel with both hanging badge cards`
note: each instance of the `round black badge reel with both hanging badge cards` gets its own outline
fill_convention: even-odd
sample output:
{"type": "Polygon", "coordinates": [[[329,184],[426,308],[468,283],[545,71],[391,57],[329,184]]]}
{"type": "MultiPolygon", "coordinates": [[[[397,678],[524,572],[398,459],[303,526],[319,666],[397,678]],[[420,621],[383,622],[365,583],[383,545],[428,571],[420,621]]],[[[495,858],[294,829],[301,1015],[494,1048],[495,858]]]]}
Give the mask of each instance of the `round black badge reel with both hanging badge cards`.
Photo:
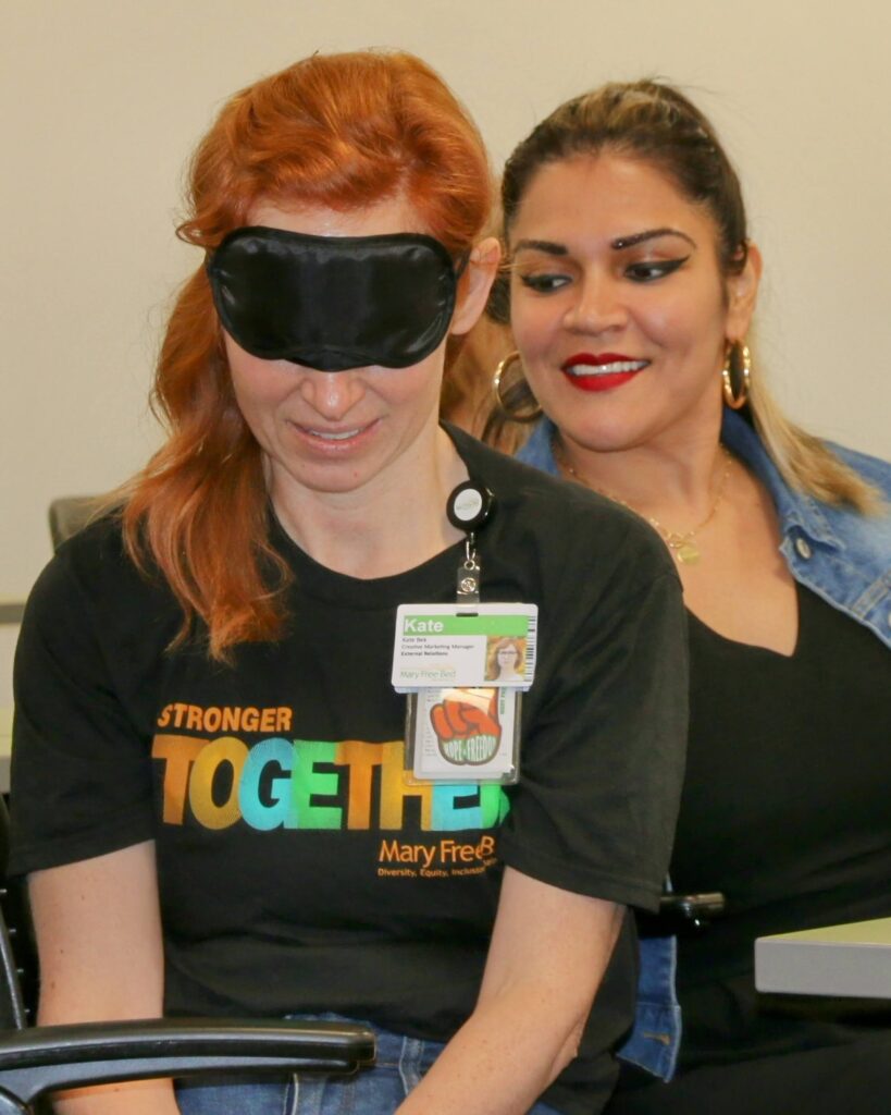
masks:
{"type": "Polygon", "coordinates": [[[519,777],[520,700],[535,668],[537,609],[480,601],[477,533],[493,511],[492,493],[476,481],[454,488],[446,514],[466,535],[456,602],[398,609],[393,686],[409,697],[410,783],[503,785],[519,777]],[[512,652],[509,677],[493,665],[502,644],[512,652]]]}

